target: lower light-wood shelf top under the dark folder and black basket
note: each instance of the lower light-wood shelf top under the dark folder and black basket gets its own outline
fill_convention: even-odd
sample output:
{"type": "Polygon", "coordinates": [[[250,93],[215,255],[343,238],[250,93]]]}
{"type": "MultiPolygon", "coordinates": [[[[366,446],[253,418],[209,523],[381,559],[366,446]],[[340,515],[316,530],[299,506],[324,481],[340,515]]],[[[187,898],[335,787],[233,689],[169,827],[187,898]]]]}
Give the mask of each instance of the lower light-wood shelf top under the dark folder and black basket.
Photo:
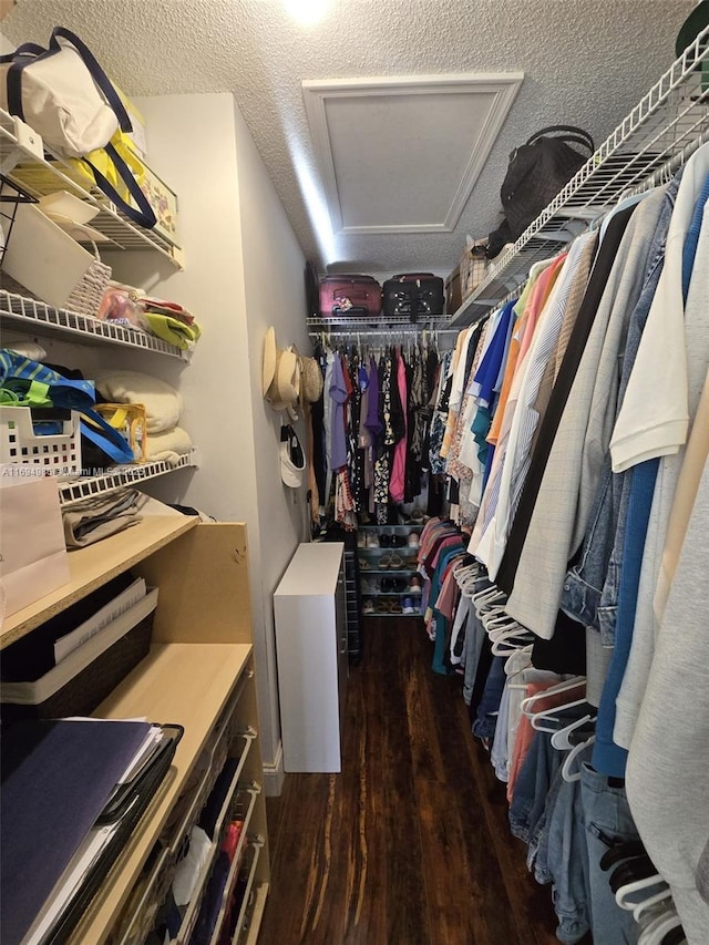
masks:
{"type": "Polygon", "coordinates": [[[185,733],[166,783],[74,931],[72,942],[105,941],[250,655],[248,644],[153,645],[150,655],[93,713],[113,719],[147,717],[182,725],[185,733]]]}

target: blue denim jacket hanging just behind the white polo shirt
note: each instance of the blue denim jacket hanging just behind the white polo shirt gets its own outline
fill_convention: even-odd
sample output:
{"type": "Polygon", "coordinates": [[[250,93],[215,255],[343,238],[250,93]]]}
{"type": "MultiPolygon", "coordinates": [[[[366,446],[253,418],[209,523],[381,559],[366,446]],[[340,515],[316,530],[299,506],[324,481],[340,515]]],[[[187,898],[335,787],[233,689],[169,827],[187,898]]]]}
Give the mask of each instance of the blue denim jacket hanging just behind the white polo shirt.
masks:
{"type": "MultiPolygon", "coordinates": [[[[643,329],[665,265],[665,244],[669,220],[679,188],[679,175],[667,187],[665,199],[650,242],[643,289],[630,314],[623,356],[617,410],[620,409],[630,371],[635,364],[643,329]]],[[[620,562],[628,491],[625,473],[613,473],[608,452],[600,474],[590,522],[582,546],[580,558],[564,581],[561,607],[569,617],[600,631],[604,646],[615,639],[616,609],[620,582],[620,562]]]]}

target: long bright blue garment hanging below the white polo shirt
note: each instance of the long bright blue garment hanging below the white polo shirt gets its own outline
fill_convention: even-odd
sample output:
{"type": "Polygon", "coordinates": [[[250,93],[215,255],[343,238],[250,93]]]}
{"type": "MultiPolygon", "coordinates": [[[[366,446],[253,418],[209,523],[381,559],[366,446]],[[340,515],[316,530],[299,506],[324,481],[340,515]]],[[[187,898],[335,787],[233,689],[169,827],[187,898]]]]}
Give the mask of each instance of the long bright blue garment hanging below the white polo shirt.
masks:
{"type": "Polygon", "coordinates": [[[643,548],[647,536],[658,470],[659,460],[646,460],[628,470],[629,475],[627,477],[630,482],[630,501],[623,546],[623,574],[620,575],[620,589],[618,592],[616,645],[613,649],[608,675],[598,706],[596,743],[592,761],[596,771],[615,778],[625,778],[625,767],[628,760],[626,749],[614,742],[613,729],[616,723],[616,698],[620,691],[630,656],[638,586],[640,584],[640,567],[643,565],[643,548]]]}

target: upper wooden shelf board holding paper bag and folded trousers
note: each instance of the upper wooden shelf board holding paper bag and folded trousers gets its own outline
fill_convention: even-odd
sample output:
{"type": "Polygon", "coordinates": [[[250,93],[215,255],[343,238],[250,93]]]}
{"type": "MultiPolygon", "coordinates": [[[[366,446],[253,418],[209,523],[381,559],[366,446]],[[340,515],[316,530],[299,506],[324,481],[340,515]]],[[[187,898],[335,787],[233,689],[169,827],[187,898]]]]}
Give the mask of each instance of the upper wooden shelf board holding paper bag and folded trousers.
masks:
{"type": "Polygon", "coordinates": [[[146,516],[132,528],[104,538],[95,545],[70,552],[69,583],[8,617],[0,630],[0,649],[143,561],[177,535],[188,532],[197,522],[196,516],[146,516]]]}

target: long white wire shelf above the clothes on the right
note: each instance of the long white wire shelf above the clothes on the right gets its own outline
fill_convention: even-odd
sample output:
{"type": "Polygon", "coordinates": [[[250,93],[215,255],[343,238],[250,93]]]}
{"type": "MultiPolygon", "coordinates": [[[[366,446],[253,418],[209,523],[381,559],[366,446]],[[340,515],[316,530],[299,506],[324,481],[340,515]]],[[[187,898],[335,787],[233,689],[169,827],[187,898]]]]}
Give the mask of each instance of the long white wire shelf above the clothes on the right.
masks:
{"type": "Polygon", "coordinates": [[[534,263],[558,253],[621,197],[669,179],[709,136],[709,88],[702,88],[701,74],[701,63],[708,58],[709,28],[495,260],[475,291],[451,316],[451,326],[471,325],[508,298],[525,281],[534,263]]]}

